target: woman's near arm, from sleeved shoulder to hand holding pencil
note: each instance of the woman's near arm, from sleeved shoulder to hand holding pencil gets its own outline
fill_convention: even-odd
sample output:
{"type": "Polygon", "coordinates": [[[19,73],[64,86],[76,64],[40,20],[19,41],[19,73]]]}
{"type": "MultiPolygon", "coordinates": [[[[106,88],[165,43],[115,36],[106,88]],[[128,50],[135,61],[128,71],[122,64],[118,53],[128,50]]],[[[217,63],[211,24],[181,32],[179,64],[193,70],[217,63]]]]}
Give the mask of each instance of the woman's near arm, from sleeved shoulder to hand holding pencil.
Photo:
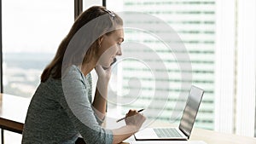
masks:
{"type": "Polygon", "coordinates": [[[83,83],[78,68],[73,66],[61,80],[64,93],[64,96],[60,97],[61,106],[86,143],[119,143],[134,134],[143,124],[145,120],[143,115],[137,111],[130,111],[125,118],[126,126],[117,130],[103,129],[96,122],[95,112],[89,100],[90,93],[86,92],[88,89],[83,83]]]}

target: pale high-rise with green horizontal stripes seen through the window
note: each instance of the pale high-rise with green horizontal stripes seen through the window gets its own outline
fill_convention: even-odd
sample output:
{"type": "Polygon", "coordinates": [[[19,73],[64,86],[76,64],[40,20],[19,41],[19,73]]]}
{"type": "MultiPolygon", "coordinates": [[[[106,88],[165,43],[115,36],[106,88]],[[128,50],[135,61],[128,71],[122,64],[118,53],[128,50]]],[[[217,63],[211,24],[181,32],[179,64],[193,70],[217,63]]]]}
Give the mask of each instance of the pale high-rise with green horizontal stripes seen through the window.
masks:
{"type": "MultiPolygon", "coordinates": [[[[144,14],[156,17],[159,21],[164,21],[167,25],[171,26],[174,32],[177,32],[178,36],[181,38],[182,42],[187,49],[187,51],[168,51],[158,38],[155,36],[164,35],[166,30],[159,27],[159,31],[154,31],[154,28],[159,26],[159,21],[141,20],[137,19],[136,15],[134,20],[130,17],[125,17],[125,43],[123,44],[123,55],[144,55],[146,57],[148,49],[143,49],[143,47],[150,48],[157,55],[160,56],[160,60],[163,60],[166,68],[159,68],[154,73],[156,75],[161,75],[161,73],[168,72],[169,78],[154,78],[150,72],[148,72],[147,66],[139,65],[136,60],[127,61],[120,68],[122,71],[122,88],[120,91],[129,92],[136,90],[136,86],[129,85],[128,83],[132,81],[132,78],[138,78],[142,83],[140,95],[134,97],[134,95],[123,96],[125,101],[130,101],[129,105],[124,105],[121,107],[121,112],[125,114],[129,108],[149,108],[148,104],[152,103],[152,97],[155,93],[169,93],[168,102],[161,95],[158,99],[154,101],[155,111],[152,115],[148,113],[148,118],[158,118],[163,121],[176,120],[172,116],[172,112],[179,113],[177,116],[181,116],[183,111],[183,106],[176,107],[178,95],[183,93],[182,104],[186,101],[186,96],[188,96],[188,89],[183,89],[181,84],[195,84],[201,89],[205,89],[206,93],[204,95],[203,101],[201,103],[200,111],[197,115],[195,125],[197,127],[212,130],[214,129],[214,46],[215,46],[215,2],[207,1],[170,1],[170,0],[124,0],[124,1],[107,1],[108,9],[113,11],[132,11],[132,12],[142,12],[144,14]],[[146,26],[154,22],[152,25],[152,33],[146,30],[146,26]],[[136,26],[144,25],[145,29],[137,28],[136,26]],[[134,29],[129,28],[135,26],[134,29]],[[127,28],[128,27],[128,28],[127,28]],[[137,29],[136,29],[137,28],[137,29]],[[145,30],[145,31],[144,31],[145,30]],[[148,34],[148,33],[149,34],[148,34]],[[131,47],[129,43],[140,43],[137,47],[131,47]],[[126,47],[127,46],[127,47],[126,47]],[[173,53],[178,53],[182,55],[183,53],[188,53],[190,57],[189,60],[177,60],[173,53]],[[180,65],[192,65],[192,69],[180,69],[180,65]],[[192,74],[193,80],[182,79],[181,71],[185,74],[192,74]],[[154,83],[158,84],[170,84],[167,89],[160,89],[158,87],[155,89],[154,83]],[[180,89],[181,88],[181,89],[180,89]],[[166,105],[165,105],[166,104],[166,105]],[[162,109],[163,108],[163,109],[162,109]],[[161,110],[162,109],[162,110],[161,110]],[[157,117],[157,114],[160,114],[157,117]]],[[[143,27],[143,26],[141,26],[143,27]]],[[[170,33],[166,33],[170,34],[170,33]]],[[[165,41],[164,41],[165,42],[165,41]]],[[[166,42],[168,43],[168,42],[166,42]]],[[[149,57],[145,59],[144,63],[153,63],[154,58],[149,57]]],[[[155,62],[155,61],[154,61],[155,62]]],[[[158,61],[159,62],[159,61],[158,61]]],[[[157,63],[157,61],[156,61],[157,63]]],[[[155,75],[154,75],[155,76],[155,75]]],[[[160,77],[160,76],[159,76],[160,77]]],[[[144,113],[146,115],[146,113],[144,113]]]]}

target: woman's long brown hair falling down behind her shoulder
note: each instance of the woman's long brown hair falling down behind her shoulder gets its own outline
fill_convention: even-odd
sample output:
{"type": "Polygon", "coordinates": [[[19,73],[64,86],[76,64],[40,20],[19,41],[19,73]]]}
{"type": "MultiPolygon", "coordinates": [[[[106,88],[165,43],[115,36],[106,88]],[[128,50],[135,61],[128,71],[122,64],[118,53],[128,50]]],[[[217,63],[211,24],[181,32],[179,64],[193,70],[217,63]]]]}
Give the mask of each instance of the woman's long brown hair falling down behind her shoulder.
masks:
{"type": "MultiPolygon", "coordinates": [[[[90,30],[92,32],[88,32],[87,35],[90,35],[91,33],[93,33],[93,31],[99,28],[102,34],[106,32],[105,34],[108,35],[111,33],[109,30],[113,28],[113,26],[123,26],[123,20],[119,17],[119,15],[113,12],[110,13],[110,11],[102,6],[93,6],[90,7],[90,9],[85,10],[75,20],[71,30],[67,34],[67,37],[65,37],[61,41],[61,44],[59,45],[54,59],[49,63],[48,66],[46,66],[44,72],[41,75],[41,82],[45,82],[49,78],[49,76],[55,79],[61,78],[63,59],[67,51],[68,44],[72,41],[72,38],[75,36],[75,34],[79,32],[79,29],[81,29],[84,25],[88,24],[91,20],[95,20],[97,17],[102,16],[103,14],[108,14],[108,20],[102,20],[96,23],[96,25],[90,30]]],[[[72,55],[70,55],[70,59],[68,60],[67,64],[65,64],[65,66],[70,66],[72,64],[81,64],[77,61],[77,59],[81,57],[83,57],[83,60],[81,61],[83,63],[90,61],[92,57],[97,54],[100,37],[97,38],[98,39],[96,39],[96,41],[90,43],[90,48],[85,50],[85,55],[81,53],[81,49],[83,48],[73,48],[72,55]]],[[[84,39],[84,41],[86,41],[86,38],[84,39]]]]}

